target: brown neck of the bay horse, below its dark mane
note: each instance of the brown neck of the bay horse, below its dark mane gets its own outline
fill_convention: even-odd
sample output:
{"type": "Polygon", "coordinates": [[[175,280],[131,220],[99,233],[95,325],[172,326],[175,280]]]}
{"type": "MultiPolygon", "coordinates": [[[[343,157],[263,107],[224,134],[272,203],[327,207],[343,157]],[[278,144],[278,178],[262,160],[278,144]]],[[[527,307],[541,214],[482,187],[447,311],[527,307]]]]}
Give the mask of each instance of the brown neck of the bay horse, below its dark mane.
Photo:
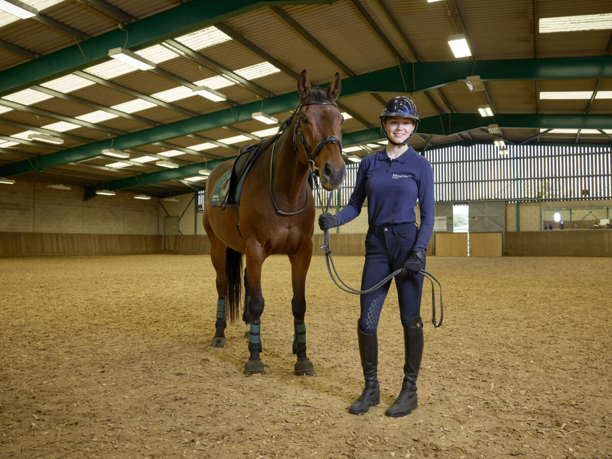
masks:
{"type": "MultiPolygon", "coordinates": [[[[293,144],[294,120],[277,139],[274,146],[274,168],[272,170],[272,190],[277,200],[285,200],[286,204],[296,203],[303,206],[306,183],[308,181],[308,166],[300,162],[293,144]]],[[[272,152],[272,149],[270,149],[272,152]]],[[[272,153],[271,153],[272,154],[272,153]]],[[[304,154],[304,152],[300,152],[304,154]]]]}

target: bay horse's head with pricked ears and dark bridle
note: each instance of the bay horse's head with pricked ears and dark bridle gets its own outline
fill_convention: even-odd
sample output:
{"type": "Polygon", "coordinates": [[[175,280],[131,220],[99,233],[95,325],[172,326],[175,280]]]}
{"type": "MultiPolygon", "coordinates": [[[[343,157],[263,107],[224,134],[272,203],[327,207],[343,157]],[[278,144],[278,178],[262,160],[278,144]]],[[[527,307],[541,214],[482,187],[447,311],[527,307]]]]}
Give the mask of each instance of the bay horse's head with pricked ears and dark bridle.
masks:
{"type": "Polygon", "coordinates": [[[302,70],[297,91],[300,105],[296,109],[293,142],[300,161],[318,175],[323,188],[340,188],[346,176],[341,143],[344,119],[334,102],[340,94],[340,75],[336,73],[327,91],[323,91],[310,88],[310,78],[302,70]]]}

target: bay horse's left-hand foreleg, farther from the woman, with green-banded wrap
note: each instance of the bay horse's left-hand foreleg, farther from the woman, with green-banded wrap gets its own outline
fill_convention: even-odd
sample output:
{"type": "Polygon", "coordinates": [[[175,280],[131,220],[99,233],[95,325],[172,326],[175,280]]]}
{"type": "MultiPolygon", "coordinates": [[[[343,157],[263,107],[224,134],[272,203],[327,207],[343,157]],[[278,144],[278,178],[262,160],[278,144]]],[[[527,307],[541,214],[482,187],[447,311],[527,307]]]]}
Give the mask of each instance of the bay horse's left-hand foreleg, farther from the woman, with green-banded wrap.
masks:
{"type": "Polygon", "coordinates": [[[262,351],[261,346],[261,315],[264,312],[264,297],[261,294],[261,264],[263,256],[257,247],[247,245],[247,272],[248,272],[248,316],[250,317],[250,328],[248,332],[248,352],[250,353],[247,363],[244,365],[245,375],[263,375],[264,364],[259,358],[262,351]]]}

